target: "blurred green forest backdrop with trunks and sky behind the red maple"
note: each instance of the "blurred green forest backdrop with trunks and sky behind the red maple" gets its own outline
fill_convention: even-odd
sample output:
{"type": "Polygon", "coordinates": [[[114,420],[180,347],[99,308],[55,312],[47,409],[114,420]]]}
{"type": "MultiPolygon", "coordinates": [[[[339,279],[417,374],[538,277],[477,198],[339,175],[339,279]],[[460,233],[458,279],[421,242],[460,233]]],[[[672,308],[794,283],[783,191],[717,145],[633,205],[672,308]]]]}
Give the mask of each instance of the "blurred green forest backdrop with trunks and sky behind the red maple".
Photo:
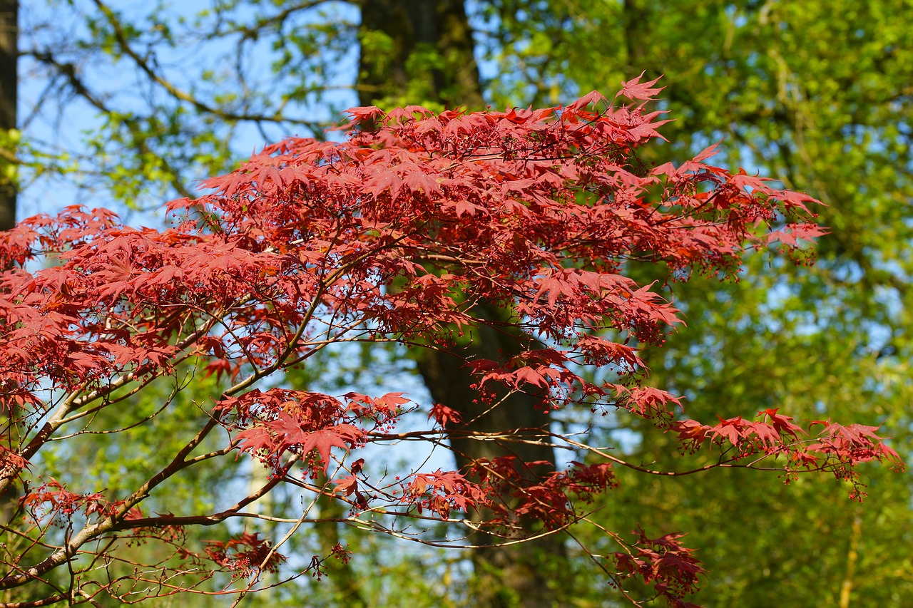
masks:
{"type": "MultiPolygon", "coordinates": [[[[234,168],[267,142],[337,137],[324,130],[350,106],[558,105],[591,89],[613,93],[642,71],[649,79],[665,75],[661,109],[677,119],[662,130],[678,146],[672,156],[684,160],[723,140],[725,156],[714,162],[812,194],[826,204],[819,221],[830,234],[820,239],[813,267],[758,254],[738,281],[693,277],[670,285],[688,329],[645,351],[649,382],[685,395],[696,418],[776,407],[797,419],[839,416],[882,425],[909,455],[907,0],[4,0],[0,12],[2,227],[14,214],[53,213],[63,204],[114,206],[128,221],[155,223],[164,201],[198,195],[196,180],[234,168]]],[[[662,268],[633,272],[647,282],[665,276],[662,268]]],[[[438,393],[466,383],[458,374],[433,357],[392,348],[339,350],[289,383],[362,391],[405,383],[440,400],[438,393]]],[[[190,384],[178,399],[193,404],[197,388],[190,384]]],[[[180,441],[181,416],[194,413],[202,415],[173,408],[154,438],[137,430],[130,454],[95,435],[48,466],[61,478],[129,485],[155,459],[158,442],[180,441]]],[[[644,442],[637,426],[604,422],[603,445],[627,460],[684,467],[671,462],[656,434],[644,442]]],[[[578,421],[560,413],[552,424],[567,429],[578,421]]],[[[687,465],[705,457],[687,456],[687,465]]],[[[188,478],[160,498],[161,511],[213,502],[251,474],[236,467],[188,478]]],[[[687,545],[710,572],[696,603],[846,608],[903,605],[913,596],[908,474],[870,467],[861,505],[824,476],[789,484],[776,473],[726,469],[618,476],[620,487],[594,505],[593,519],[617,530],[638,522],[659,533],[688,530],[687,545]]],[[[298,500],[260,508],[294,511],[298,500]]],[[[331,514],[342,507],[320,508],[331,514]]],[[[572,534],[598,551],[602,540],[592,529],[572,534]]],[[[570,540],[467,554],[324,524],[295,542],[304,555],[338,540],[354,550],[348,565],[245,603],[626,604],[570,540]],[[535,599],[530,589],[538,590],[535,599]]],[[[177,601],[191,599],[222,605],[177,601]]]]}

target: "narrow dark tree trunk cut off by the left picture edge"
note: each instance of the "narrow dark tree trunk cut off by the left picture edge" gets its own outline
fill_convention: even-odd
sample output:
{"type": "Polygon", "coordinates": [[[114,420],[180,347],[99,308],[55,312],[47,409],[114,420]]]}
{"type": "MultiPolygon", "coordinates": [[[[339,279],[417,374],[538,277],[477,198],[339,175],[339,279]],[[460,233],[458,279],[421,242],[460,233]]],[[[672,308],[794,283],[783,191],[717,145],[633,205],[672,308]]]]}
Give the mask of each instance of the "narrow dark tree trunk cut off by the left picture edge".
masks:
{"type": "MultiPolygon", "coordinates": [[[[16,34],[18,33],[16,0],[0,0],[0,131],[16,129],[16,34]]],[[[13,162],[7,158],[13,150],[4,150],[0,168],[13,162]]],[[[9,230],[16,224],[16,184],[0,173],[0,230],[9,230]]]]}

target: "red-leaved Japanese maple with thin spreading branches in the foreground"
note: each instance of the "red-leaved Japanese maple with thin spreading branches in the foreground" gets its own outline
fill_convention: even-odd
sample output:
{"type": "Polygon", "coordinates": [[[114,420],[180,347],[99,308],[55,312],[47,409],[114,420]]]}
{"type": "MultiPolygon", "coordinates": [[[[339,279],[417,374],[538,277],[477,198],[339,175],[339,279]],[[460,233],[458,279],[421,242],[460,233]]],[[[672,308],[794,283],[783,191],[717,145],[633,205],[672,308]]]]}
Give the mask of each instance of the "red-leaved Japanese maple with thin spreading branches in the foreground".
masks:
{"type": "MultiPolygon", "coordinates": [[[[71,207],[0,236],[0,261],[10,268],[0,288],[0,400],[9,422],[0,491],[28,488],[6,529],[32,539],[5,564],[0,589],[40,595],[16,604],[23,606],[118,597],[124,582],[94,572],[115,559],[120,543],[142,539],[173,547],[204,575],[248,579],[242,593],[256,590],[264,571],[281,571],[281,540],[244,533],[194,549],[181,539],[190,526],[253,517],[246,507],[279,484],[345,501],[352,519],[444,519],[510,538],[519,518],[540,520],[545,533],[578,522],[585,504],[616,484],[614,466],[693,472],[651,471],[579,435],[542,428],[505,429],[499,439],[572,446],[586,464],[542,473],[539,463],[505,457],[384,477],[360,457],[363,446],[397,438],[444,445],[465,423],[446,406],[414,404],[403,393],[283,386],[281,372],[342,342],[436,349],[472,341],[483,326],[510,330],[542,347],[465,362],[477,373],[478,399],[492,407],[498,395],[518,391],[540,395],[542,408],[623,410],[677,435],[682,450],[718,450],[712,466],[830,471],[855,482],[860,462],[899,465],[875,428],[830,421],[803,428],[774,409],[704,424],[685,418],[674,395],[642,385],[638,351],[662,342],[680,320],[654,285],[624,276],[631,263],[662,263],[678,280],[691,272],[731,276],[746,250],[771,244],[808,262],[809,241],[823,234],[812,198],[708,164],[712,147],[681,166],[640,162],[638,149],[661,139],[656,130],[665,122],[645,110],[655,84],[626,83],[619,96],[630,105],[593,92],[545,110],[354,108],[344,142],[268,146],[206,181],[211,194],[168,204],[176,219],[167,229],[131,228],[109,211],[71,207]],[[54,266],[33,269],[48,259],[54,266]],[[509,310],[509,320],[475,315],[483,303],[509,310]],[[184,362],[226,383],[168,466],[119,496],[42,477],[48,442],[79,435],[86,416],[184,362]],[[612,382],[589,380],[587,368],[609,370],[612,382]],[[415,420],[427,420],[426,428],[398,431],[419,409],[415,420]],[[192,456],[215,429],[227,432],[223,448],[192,456]],[[178,473],[240,454],[270,476],[234,506],[143,510],[178,473]],[[483,512],[490,516],[477,519],[483,512]],[[47,582],[57,569],[71,573],[68,588],[47,582]]],[[[313,520],[305,511],[299,523],[313,520]]],[[[374,529],[394,532],[377,521],[374,529]]],[[[687,605],[701,567],[681,535],[606,533],[619,549],[594,559],[611,582],[623,587],[638,577],[657,596],[687,605]]],[[[347,559],[340,546],[326,551],[347,559]]],[[[310,568],[320,573],[326,557],[315,556],[310,568]]],[[[193,592],[164,568],[138,565],[131,576],[155,583],[150,596],[193,592]]],[[[140,587],[126,588],[135,601],[140,587]]]]}

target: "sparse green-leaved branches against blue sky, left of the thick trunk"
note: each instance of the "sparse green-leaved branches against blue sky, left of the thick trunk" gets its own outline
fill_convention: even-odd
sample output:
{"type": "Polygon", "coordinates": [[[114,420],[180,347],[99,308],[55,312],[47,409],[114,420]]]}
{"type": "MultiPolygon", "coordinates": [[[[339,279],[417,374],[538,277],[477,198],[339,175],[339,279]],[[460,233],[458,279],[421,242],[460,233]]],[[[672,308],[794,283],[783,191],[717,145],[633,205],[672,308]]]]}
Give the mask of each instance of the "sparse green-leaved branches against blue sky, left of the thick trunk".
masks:
{"type": "MultiPolygon", "coordinates": [[[[353,105],[352,95],[325,95],[351,88],[341,72],[357,28],[351,10],[315,6],[23,6],[26,143],[37,151],[20,159],[24,182],[53,177],[92,204],[150,210],[194,197],[197,180],[253,148],[321,135],[353,105]],[[47,162],[57,158],[71,160],[47,162]]],[[[45,210],[31,195],[28,213],[45,210]]]]}

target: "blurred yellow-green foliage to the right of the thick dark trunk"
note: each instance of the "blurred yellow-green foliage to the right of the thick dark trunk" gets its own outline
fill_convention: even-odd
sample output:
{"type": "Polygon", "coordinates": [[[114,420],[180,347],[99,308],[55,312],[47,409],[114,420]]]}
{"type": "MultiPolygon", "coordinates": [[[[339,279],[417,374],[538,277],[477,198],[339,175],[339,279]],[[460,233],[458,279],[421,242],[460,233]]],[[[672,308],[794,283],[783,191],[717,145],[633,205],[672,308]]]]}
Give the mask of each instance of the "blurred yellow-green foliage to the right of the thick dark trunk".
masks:
{"type": "MultiPolygon", "coordinates": [[[[698,418],[775,406],[803,418],[850,416],[882,425],[908,453],[909,3],[566,2],[538,13],[526,5],[522,21],[510,4],[498,3],[506,37],[494,46],[527,75],[494,81],[491,99],[542,102],[625,69],[665,73],[665,103],[677,121],[664,134],[680,150],[664,158],[725,137],[729,162],[750,159],[827,203],[819,221],[829,234],[813,267],[747,257],[737,283],[675,286],[689,330],[645,353],[651,383],[686,394],[698,418]],[[542,39],[548,44],[524,46],[542,39]]],[[[628,446],[628,459],[647,462],[666,451],[656,438],[628,446]]],[[[738,472],[687,492],[640,477],[621,486],[601,512],[604,525],[649,513],[666,530],[692,530],[689,542],[711,571],[725,564],[698,601],[880,606],[910,592],[906,551],[891,540],[913,532],[908,478],[873,479],[870,498],[886,505],[876,511],[847,509],[812,484],[784,492],[738,472]],[[739,519],[708,517],[735,504],[739,519]],[[751,520],[764,525],[746,526],[751,520]],[[770,538],[751,540],[759,528],[770,538]]]]}

